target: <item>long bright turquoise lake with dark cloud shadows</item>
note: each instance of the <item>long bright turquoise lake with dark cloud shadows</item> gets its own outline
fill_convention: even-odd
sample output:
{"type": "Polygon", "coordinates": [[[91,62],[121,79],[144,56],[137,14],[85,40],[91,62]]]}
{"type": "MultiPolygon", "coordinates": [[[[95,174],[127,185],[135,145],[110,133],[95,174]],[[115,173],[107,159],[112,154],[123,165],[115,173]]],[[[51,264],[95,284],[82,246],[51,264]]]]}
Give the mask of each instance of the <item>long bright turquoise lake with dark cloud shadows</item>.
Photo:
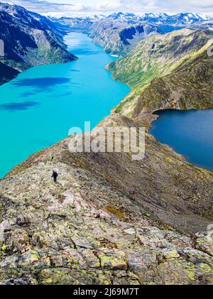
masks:
{"type": "Polygon", "coordinates": [[[75,62],[33,67],[0,87],[0,178],[36,151],[68,136],[84,121],[96,126],[129,87],[104,69],[116,58],[82,33],[65,37],[75,62]]]}

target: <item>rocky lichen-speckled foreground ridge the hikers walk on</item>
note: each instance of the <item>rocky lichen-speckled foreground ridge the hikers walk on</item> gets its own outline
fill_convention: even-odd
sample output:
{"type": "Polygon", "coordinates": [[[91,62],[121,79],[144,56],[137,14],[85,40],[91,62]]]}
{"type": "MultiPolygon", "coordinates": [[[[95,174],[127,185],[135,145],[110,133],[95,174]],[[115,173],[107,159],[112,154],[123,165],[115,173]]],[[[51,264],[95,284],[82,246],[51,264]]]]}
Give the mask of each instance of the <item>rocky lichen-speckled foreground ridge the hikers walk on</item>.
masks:
{"type": "MultiPolygon", "coordinates": [[[[138,125],[114,114],[99,128],[138,125]]],[[[1,283],[212,283],[212,173],[148,133],[143,161],[73,154],[70,138],[0,182],[1,283]]]]}

